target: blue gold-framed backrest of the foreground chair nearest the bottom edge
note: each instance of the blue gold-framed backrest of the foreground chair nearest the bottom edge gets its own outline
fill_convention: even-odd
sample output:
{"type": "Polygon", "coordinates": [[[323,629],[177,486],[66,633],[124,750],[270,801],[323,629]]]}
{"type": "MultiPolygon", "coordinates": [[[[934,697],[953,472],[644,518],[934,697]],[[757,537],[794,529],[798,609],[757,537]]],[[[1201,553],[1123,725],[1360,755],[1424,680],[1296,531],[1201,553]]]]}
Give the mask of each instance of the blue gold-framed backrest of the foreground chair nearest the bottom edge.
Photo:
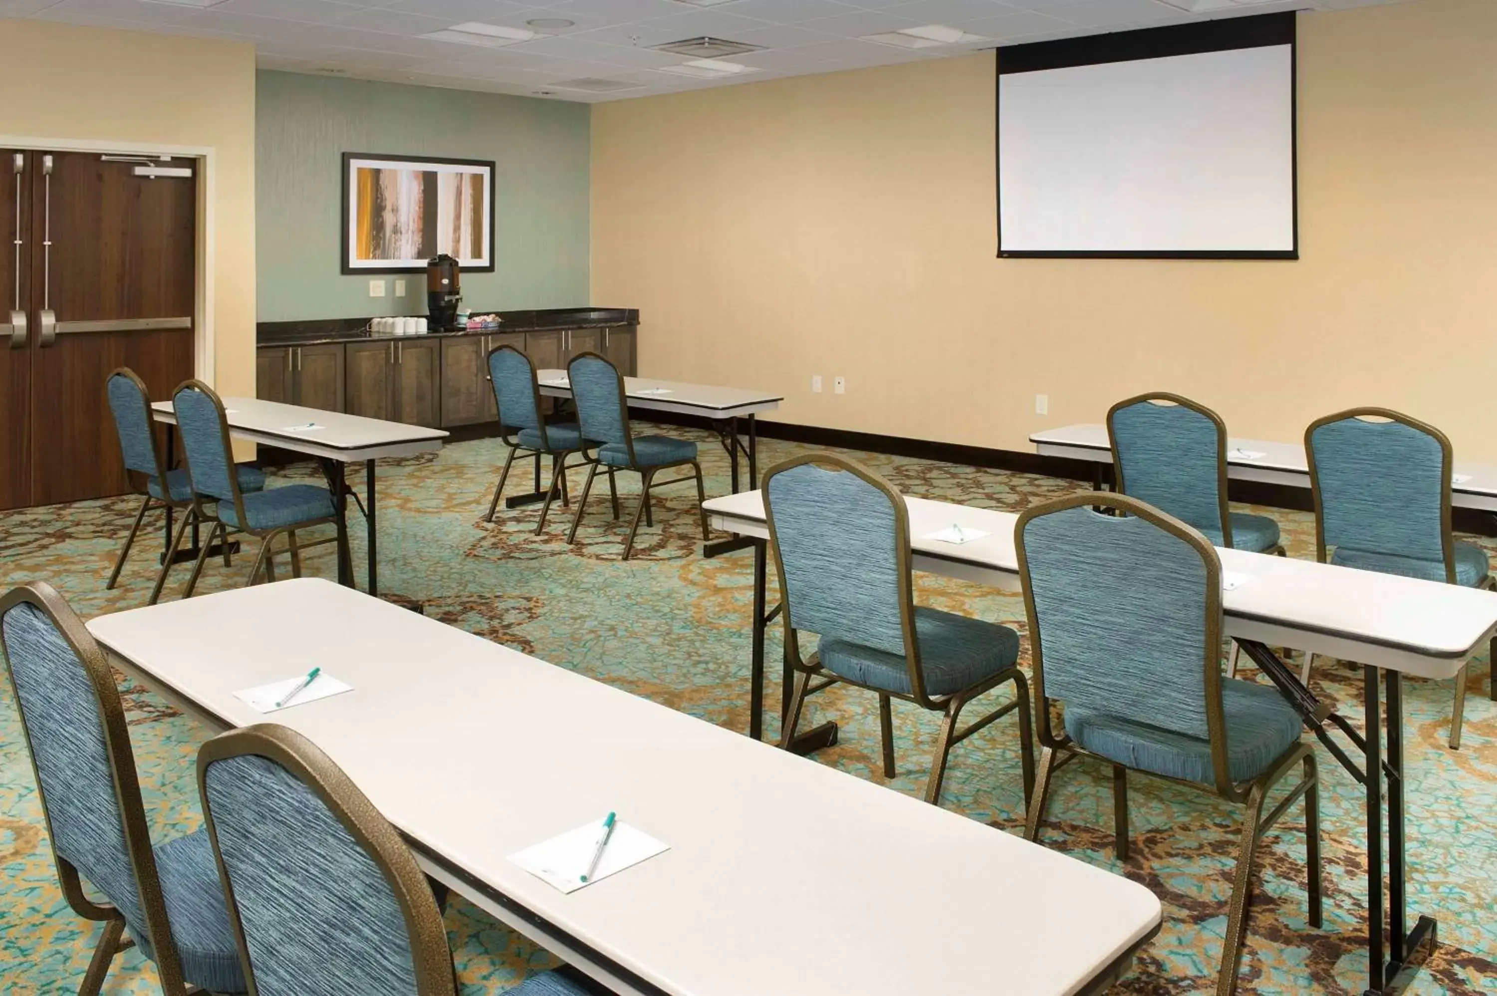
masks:
{"type": "Polygon", "coordinates": [[[431,884],[316,744],[274,723],[204,744],[198,788],[254,996],[454,996],[431,884]]]}

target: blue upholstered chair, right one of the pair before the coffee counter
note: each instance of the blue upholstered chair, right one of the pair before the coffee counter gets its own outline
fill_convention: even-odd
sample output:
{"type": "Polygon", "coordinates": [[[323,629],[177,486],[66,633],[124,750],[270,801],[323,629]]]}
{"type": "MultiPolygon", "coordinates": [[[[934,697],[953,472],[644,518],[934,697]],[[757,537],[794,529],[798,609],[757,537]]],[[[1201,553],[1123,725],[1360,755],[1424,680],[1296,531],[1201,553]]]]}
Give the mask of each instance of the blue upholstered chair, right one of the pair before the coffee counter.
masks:
{"type": "Polygon", "coordinates": [[[587,494],[593,488],[593,478],[599,467],[608,470],[614,518],[618,518],[618,488],[614,473],[633,470],[639,475],[639,508],[635,509],[635,520],[629,526],[629,539],[624,541],[623,559],[629,560],[629,554],[635,548],[635,533],[639,530],[639,515],[644,514],[647,526],[654,524],[650,511],[650,488],[692,479],[656,481],[654,475],[668,467],[687,466],[692,467],[696,478],[696,514],[702,520],[702,539],[707,539],[707,512],[702,511],[702,502],[707,500],[707,496],[702,491],[702,467],[696,463],[696,443],[671,436],[639,436],[636,439],[629,428],[624,377],[614,364],[597,353],[575,356],[567,364],[567,377],[572,382],[572,400],[576,403],[576,418],[582,431],[582,457],[587,460],[588,469],[582,497],[578,499],[576,514],[572,517],[572,532],[567,533],[566,541],[576,542],[576,527],[582,523],[587,494]]]}

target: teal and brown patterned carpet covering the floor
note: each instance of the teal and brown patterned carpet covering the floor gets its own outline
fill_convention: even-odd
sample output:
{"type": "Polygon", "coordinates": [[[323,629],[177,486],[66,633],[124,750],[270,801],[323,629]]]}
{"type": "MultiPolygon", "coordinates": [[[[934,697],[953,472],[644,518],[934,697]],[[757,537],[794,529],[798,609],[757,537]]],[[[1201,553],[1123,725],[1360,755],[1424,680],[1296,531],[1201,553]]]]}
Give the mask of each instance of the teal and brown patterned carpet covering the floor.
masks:
{"type": "MultiPolygon", "coordinates": [[[[683,430],[668,430],[683,431],[683,430]]],[[[708,494],[728,491],[728,461],[698,433],[708,494]]],[[[766,442],[765,466],[799,452],[766,442]]],[[[690,485],[656,499],[656,526],[641,526],[636,559],[618,562],[626,523],[608,515],[606,488],[590,503],[578,545],[566,539],[566,514],[533,535],[539,506],[501,512],[485,524],[497,440],[457,443],[440,455],[391,461],[380,469],[380,578],[386,595],[424,605],[428,616],[527,653],[653,698],[704,720],[746,729],[748,689],[750,554],[716,560],[698,556],[690,485]]],[[[855,454],[909,494],[1001,509],[1076,490],[1069,481],[1000,473],[919,460],[855,454]]],[[[275,482],[308,478],[290,467],[275,482]]],[[[528,490],[528,475],[510,491],[528,490]]],[[[579,485],[581,478],[573,476],[579,485]]],[[[624,484],[624,514],[635,488],[624,484]]],[[[1290,556],[1313,556],[1308,515],[1278,509],[1290,556]]],[[[0,584],[46,580],[87,616],[139,605],[150,592],[156,536],[138,550],[120,587],[105,592],[118,542],[129,529],[129,499],[0,514],[0,584]]],[[[355,530],[358,533],[358,530],[355,530]]],[[[1484,541],[1487,542],[1487,541],[1484,541]]],[[[1488,550],[1493,545],[1487,542],[1488,550]]],[[[362,563],[355,535],[355,563],[362,563]]],[[[331,548],[308,556],[308,571],[334,574],[331,548]]],[[[232,571],[210,563],[201,592],[237,586],[250,560],[232,571]]],[[[178,568],[175,586],[186,580],[178,568]]],[[[1024,629],[1016,595],[918,575],[918,598],[1024,629]]],[[[777,632],[769,659],[778,656],[777,632]]],[[[1247,669],[1246,677],[1257,677],[1247,669]]],[[[1317,664],[1314,690],[1340,702],[1361,722],[1359,671],[1317,664]]],[[[1440,920],[1443,941],[1415,993],[1497,992],[1497,705],[1488,699],[1488,668],[1469,675],[1464,747],[1445,737],[1452,683],[1409,681],[1412,906],[1440,920]]],[[[766,699],[777,699],[769,689],[766,699]]],[[[1003,696],[1009,692],[1000,690],[1003,696]]],[[[148,689],[126,689],[132,737],[147,812],[157,839],[199,821],[192,765],[207,732],[148,689]]],[[[858,689],[817,696],[808,723],[832,717],[841,741],[817,755],[853,777],[885,782],[879,767],[876,698],[858,689]]],[[[973,707],[973,710],[979,708],[973,707]]],[[[973,711],[972,714],[981,714],[973,711]]],[[[771,720],[771,734],[774,723],[771,720]]],[[[936,734],[936,716],[897,702],[898,777],[894,791],[918,795],[936,734]]],[[[1003,831],[1022,824],[1016,734],[1004,719],[952,752],[943,804],[1003,831]]],[[[1295,807],[1260,852],[1254,905],[1243,959],[1243,993],[1361,993],[1365,978],[1365,848],[1362,795],[1352,779],[1322,755],[1322,833],[1326,863],[1325,927],[1305,926],[1304,837],[1295,807]]],[[[1145,777],[1132,779],[1133,854],[1126,866],[1112,854],[1111,785],[1087,762],[1057,776],[1043,840],[1084,861],[1127,875],[1165,903],[1165,926],[1117,992],[1169,996],[1205,992],[1214,977],[1226,927],[1238,813],[1223,801],[1145,777]]],[[[43,840],[45,825],[13,701],[0,683],[0,965],[7,993],[54,993],[76,987],[91,948],[91,924],[63,903],[43,840]]],[[[994,896],[1001,903],[1004,897],[994,896]]],[[[554,965],[551,956],[516,938],[476,909],[455,902],[446,917],[464,993],[497,993],[528,972],[554,965]]],[[[1066,930],[1057,923],[1055,930],[1066,930]]],[[[154,972],[138,951],[115,962],[106,993],[154,993],[154,972]]],[[[1016,995],[1015,995],[1016,996],[1016,995]]]]}

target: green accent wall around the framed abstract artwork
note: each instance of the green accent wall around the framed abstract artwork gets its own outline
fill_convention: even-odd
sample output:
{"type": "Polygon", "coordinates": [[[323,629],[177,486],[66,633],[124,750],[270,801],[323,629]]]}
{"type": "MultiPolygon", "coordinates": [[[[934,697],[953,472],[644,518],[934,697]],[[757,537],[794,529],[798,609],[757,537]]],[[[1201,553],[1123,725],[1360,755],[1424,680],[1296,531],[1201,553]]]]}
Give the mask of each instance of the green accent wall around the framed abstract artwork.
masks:
{"type": "MultiPolygon", "coordinates": [[[[257,321],[425,315],[425,274],[344,276],[343,153],[494,160],[494,273],[464,273],[473,309],[585,307],[585,103],[257,73],[257,321]],[[368,295],[385,280],[383,298],[368,295]],[[395,280],[406,297],[394,297],[395,280]]],[[[621,304],[618,307],[627,307],[621,304]]]]}

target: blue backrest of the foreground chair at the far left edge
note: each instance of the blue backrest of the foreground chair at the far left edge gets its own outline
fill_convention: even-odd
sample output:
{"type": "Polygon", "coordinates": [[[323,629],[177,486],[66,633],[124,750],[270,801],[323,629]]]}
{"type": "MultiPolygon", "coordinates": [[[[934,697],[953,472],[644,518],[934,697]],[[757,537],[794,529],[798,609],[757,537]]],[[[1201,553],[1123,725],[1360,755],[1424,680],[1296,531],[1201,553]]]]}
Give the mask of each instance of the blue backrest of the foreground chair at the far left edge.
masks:
{"type": "Polygon", "coordinates": [[[103,652],[49,584],[0,599],[0,647],[31,753],[46,836],[63,894],[79,914],[102,920],[78,882],[88,879],[142,941],[168,992],[181,992],[156,855],[124,707],[103,652]]]}

